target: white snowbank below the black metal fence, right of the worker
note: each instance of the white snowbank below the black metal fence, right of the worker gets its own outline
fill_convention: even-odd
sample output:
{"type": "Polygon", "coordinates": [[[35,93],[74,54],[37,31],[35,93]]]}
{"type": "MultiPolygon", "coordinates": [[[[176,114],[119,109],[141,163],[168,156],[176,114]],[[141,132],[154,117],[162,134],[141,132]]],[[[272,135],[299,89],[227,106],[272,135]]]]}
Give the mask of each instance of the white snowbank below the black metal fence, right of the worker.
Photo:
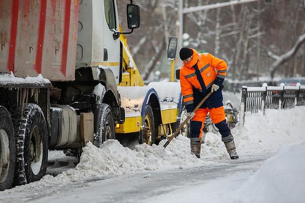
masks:
{"type": "Polygon", "coordinates": [[[245,154],[276,152],[285,145],[300,144],[305,140],[305,106],[294,109],[267,109],[251,114],[246,112],[244,127],[233,128],[237,149],[245,154]]]}

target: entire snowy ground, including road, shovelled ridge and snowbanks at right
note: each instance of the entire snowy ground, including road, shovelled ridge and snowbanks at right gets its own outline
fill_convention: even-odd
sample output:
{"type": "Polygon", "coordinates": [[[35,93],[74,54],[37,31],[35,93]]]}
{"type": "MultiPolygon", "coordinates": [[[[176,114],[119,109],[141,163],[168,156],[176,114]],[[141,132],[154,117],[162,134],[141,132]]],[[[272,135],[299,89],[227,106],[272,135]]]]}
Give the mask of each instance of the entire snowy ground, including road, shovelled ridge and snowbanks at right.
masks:
{"type": "Polygon", "coordinates": [[[182,136],[166,149],[165,140],[135,150],[116,140],[101,149],[89,144],[75,168],[71,164],[56,177],[2,191],[0,203],[305,202],[304,121],[304,106],[247,114],[244,127],[232,130],[238,160],[229,159],[213,133],[207,134],[200,159],[189,154],[189,139],[182,136]],[[299,145],[289,148],[294,144],[299,145]]]}

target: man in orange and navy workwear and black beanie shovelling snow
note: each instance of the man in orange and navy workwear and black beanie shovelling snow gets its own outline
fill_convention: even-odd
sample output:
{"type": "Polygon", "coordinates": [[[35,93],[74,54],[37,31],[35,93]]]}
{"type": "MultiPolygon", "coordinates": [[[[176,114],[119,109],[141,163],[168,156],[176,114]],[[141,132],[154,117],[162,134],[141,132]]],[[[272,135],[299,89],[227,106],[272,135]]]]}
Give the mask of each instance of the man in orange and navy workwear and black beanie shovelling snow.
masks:
{"type": "Polygon", "coordinates": [[[226,62],[210,53],[198,53],[194,49],[185,47],[180,50],[179,55],[183,61],[180,69],[183,102],[187,116],[191,118],[191,153],[200,158],[202,129],[209,112],[212,122],[219,129],[221,140],[224,142],[230,158],[238,159],[234,138],[225,119],[220,88],[227,73],[226,62]],[[210,91],[213,94],[196,112],[192,112],[210,91]]]}

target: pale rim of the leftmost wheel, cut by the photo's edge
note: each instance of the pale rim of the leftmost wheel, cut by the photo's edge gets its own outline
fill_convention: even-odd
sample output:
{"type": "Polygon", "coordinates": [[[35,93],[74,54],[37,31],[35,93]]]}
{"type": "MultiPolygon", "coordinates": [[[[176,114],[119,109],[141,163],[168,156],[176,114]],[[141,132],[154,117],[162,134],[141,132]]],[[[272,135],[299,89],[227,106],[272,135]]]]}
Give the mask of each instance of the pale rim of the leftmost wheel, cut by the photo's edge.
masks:
{"type": "Polygon", "coordinates": [[[9,166],[9,140],[4,129],[0,129],[0,182],[4,182],[8,174],[9,166]]]}

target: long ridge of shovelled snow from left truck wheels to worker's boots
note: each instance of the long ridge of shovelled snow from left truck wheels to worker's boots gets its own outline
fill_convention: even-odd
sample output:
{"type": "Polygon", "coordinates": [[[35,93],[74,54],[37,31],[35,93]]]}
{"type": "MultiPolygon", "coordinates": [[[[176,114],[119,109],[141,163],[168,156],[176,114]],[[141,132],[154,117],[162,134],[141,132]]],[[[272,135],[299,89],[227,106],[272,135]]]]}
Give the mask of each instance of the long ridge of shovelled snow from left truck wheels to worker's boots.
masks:
{"type": "MultiPolygon", "coordinates": [[[[216,141],[220,139],[220,136],[209,133],[207,137],[210,137],[207,142],[209,144],[202,145],[201,159],[190,154],[190,141],[182,135],[173,139],[165,149],[163,145],[166,140],[162,140],[158,146],[137,145],[135,150],[123,147],[117,140],[107,140],[101,148],[96,148],[88,143],[83,148],[80,163],[75,169],[69,169],[56,177],[46,175],[40,181],[18,187],[39,189],[50,185],[69,185],[91,179],[103,179],[157,169],[216,165],[217,163],[213,162],[214,159],[219,160],[223,157],[228,159],[229,156],[226,154],[223,144],[221,141],[216,141]]],[[[5,190],[4,193],[11,193],[14,190],[5,190]]]]}

